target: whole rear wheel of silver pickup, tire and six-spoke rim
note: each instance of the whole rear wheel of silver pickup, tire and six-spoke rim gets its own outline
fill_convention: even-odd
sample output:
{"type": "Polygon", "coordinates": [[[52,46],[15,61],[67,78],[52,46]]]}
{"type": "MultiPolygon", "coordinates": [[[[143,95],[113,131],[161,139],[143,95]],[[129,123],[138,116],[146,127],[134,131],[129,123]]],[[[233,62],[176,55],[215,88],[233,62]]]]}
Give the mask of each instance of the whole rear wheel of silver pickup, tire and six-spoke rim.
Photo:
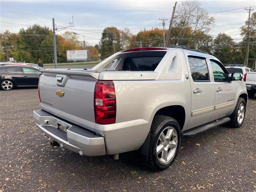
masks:
{"type": "Polygon", "coordinates": [[[150,131],[147,165],[152,170],[163,170],[174,162],[181,142],[178,122],[169,116],[155,116],[150,131]]]}

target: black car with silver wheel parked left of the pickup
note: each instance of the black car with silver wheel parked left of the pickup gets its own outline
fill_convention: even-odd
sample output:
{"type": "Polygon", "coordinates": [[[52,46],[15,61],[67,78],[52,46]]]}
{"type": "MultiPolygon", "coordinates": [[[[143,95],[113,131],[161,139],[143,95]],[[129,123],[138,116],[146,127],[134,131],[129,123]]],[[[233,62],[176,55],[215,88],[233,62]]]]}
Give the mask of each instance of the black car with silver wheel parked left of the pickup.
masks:
{"type": "Polygon", "coordinates": [[[12,90],[14,87],[38,86],[41,72],[21,64],[0,66],[0,88],[12,90]]]}

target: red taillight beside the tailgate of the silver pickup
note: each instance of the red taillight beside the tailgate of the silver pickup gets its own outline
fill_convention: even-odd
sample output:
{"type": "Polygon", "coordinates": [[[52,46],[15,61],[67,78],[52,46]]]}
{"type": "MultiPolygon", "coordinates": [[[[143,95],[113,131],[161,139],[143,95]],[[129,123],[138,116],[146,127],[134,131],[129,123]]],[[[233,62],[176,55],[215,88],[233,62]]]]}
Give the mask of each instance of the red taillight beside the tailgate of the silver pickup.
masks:
{"type": "Polygon", "coordinates": [[[94,116],[97,124],[116,122],[116,92],[113,81],[98,81],[94,90],[94,116]]]}

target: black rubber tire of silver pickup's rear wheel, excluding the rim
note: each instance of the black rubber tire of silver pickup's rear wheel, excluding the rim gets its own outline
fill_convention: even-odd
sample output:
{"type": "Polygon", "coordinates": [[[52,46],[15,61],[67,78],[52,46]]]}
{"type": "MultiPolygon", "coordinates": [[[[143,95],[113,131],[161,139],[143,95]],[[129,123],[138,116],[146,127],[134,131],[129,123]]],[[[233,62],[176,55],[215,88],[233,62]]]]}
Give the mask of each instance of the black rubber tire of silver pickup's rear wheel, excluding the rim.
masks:
{"type": "MultiPolygon", "coordinates": [[[[175,136],[176,138],[176,136],[175,136]]],[[[154,117],[152,126],[151,126],[151,132],[150,132],[150,144],[149,144],[149,151],[148,151],[148,160],[147,160],[147,166],[151,170],[164,170],[168,168],[172,162],[174,162],[178,151],[180,149],[180,142],[181,142],[181,130],[180,125],[178,122],[169,116],[163,116],[163,115],[157,115],[154,117]],[[158,138],[160,137],[160,134],[163,130],[165,130],[167,127],[171,126],[172,128],[175,128],[177,133],[177,145],[176,145],[176,151],[172,158],[168,160],[166,163],[162,163],[158,160],[158,156],[156,154],[156,146],[158,144],[158,138]]]]}

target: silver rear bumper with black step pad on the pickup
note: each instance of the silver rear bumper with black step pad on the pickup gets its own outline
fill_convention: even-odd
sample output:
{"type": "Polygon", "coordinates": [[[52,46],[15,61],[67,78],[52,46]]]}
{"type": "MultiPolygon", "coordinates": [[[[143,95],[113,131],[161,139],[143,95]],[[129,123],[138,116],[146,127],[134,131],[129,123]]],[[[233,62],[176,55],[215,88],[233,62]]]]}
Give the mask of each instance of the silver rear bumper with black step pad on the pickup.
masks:
{"type": "Polygon", "coordinates": [[[36,125],[47,136],[58,142],[64,148],[86,156],[101,156],[106,154],[104,137],[96,136],[92,132],[70,124],[42,110],[35,110],[33,112],[33,118],[36,125]],[[62,126],[66,131],[58,129],[58,126],[62,126]]]}

